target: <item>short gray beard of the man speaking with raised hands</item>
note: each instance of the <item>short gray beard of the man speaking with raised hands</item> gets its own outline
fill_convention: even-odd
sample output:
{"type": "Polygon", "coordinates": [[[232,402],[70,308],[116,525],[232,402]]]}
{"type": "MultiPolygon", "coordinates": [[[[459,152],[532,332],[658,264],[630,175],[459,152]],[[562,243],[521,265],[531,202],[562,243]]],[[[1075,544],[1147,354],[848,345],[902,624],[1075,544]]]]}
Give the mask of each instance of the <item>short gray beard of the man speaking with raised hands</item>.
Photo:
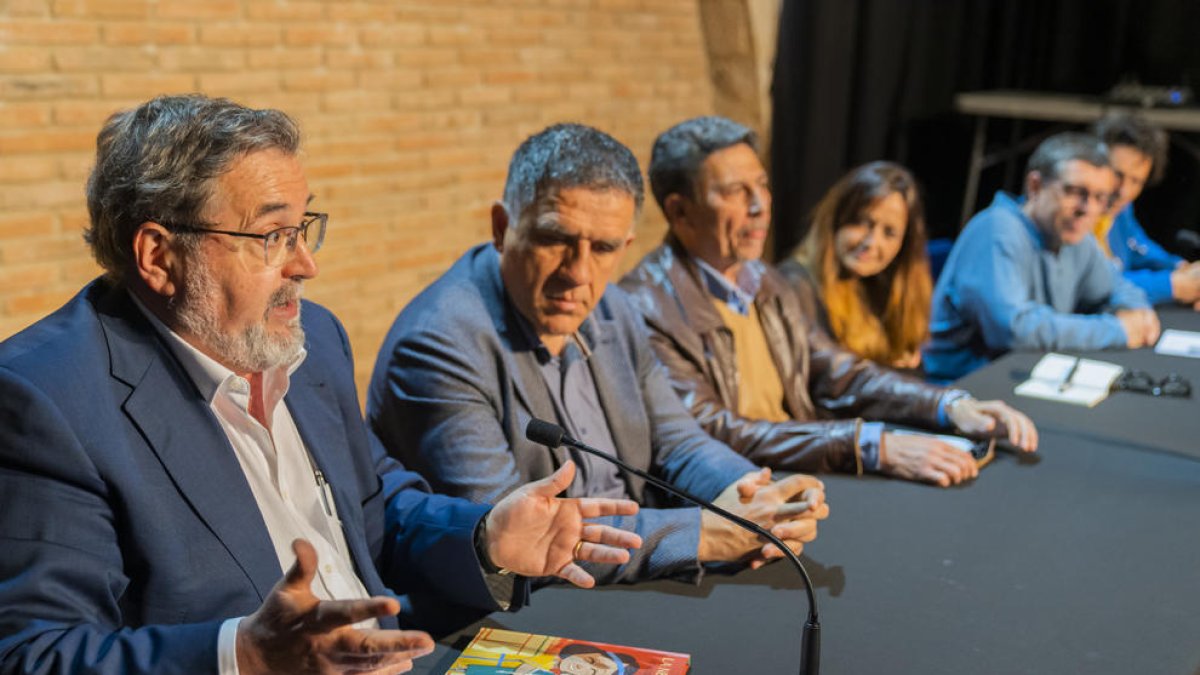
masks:
{"type": "MultiPolygon", "coordinates": [[[[300,315],[282,336],[272,336],[266,330],[266,317],[271,307],[300,299],[301,282],[289,283],[271,294],[263,321],[241,333],[227,333],[217,319],[217,297],[221,289],[204,263],[198,263],[184,280],[184,294],[175,310],[175,319],[202,345],[234,372],[262,372],[288,363],[304,347],[304,328],[300,315]]],[[[299,311],[299,310],[298,310],[299,311]]]]}

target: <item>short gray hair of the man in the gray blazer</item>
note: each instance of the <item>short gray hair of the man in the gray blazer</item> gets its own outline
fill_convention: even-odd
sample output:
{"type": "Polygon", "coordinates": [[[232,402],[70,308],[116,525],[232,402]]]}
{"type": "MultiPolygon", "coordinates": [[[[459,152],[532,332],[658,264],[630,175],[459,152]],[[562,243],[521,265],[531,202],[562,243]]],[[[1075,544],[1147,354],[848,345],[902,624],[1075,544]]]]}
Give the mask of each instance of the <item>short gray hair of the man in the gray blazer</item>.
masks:
{"type": "Polygon", "coordinates": [[[617,190],[642,210],[644,189],[637,159],[619,141],[582,124],[556,124],[527,138],[512,154],[504,183],[504,207],[521,216],[559,190],[617,190]]]}

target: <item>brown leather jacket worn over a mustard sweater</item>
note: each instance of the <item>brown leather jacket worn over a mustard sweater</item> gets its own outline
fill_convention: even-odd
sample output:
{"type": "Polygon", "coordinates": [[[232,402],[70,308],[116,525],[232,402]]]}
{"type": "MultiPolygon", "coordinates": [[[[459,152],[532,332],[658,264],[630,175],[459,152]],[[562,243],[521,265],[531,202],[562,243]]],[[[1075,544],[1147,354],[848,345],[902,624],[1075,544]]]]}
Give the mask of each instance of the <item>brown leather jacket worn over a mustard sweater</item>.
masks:
{"type": "Polygon", "coordinates": [[[862,472],[863,418],[936,426],[947,389],[876,365],[811,324],[787,281],[770,265],[755,297],[784,382],[790,422],[738,416],[733,334],[713,309],[700,270],[674,240],[647,255],[620,281],[636,299],[671,383],[713,437],[755,464],[804,472],[862,472]]]}

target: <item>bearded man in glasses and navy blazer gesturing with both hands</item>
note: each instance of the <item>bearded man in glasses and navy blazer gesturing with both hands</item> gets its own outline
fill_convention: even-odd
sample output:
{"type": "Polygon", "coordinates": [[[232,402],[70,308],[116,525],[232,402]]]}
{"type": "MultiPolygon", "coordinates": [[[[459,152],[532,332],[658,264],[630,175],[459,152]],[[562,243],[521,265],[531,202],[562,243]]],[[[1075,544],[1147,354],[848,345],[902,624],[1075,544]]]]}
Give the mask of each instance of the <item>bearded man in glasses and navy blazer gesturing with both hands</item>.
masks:
{"type": "Polygon", "coordinates": [[[401,626],[640,545],[584,520],[635,503],[557,497],[574,465],[488,508],[385,455],[300,299],[328,216],[299,142],[198,95],[101,131],[104,276],[0,344],[0,671],[402,673],[432,640],[401,626]]]}

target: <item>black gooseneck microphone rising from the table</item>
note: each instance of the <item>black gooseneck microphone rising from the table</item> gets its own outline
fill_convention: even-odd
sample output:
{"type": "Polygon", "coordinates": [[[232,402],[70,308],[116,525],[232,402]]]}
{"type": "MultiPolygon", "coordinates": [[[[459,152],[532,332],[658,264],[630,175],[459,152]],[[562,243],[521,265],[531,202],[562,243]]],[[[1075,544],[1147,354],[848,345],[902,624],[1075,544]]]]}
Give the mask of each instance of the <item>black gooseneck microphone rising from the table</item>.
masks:
{"type": "Polygon", "coordinates": [[[818,670],[821,669],[821,622],[817,620],[817,598],[812,593],[812,580],[809,579],[809,573],[808,571],[804,569],[804,565],[800,562],[799,556],[797,556],[796,552],[792,551],[792,549],[787,548],[787,545],[785,545],[784,542],[779,539],[779,537],[772,534],[769,531],[767,531],[757,522],[754,522],[752,520],[748,520],[745,518],[742,518],[740,515],[730,513],[728,510],[725,510],[724,508],[714,504],[713,502],[709,502],[708,500],[702,500],[700,497],[690,495],[685,490],[676,488],[674,485],[667,483],[666,480],[662,480],[661,478],[650,476],[649,473],[635,466],[630,466],[628,462],[614,455],[600,452],[590,446],[582,443],[581,441],[576,441],[575,438],[568,436],[566,430],[557,424],[546,422],[544,419],[538,419],[535,417],[529,420],[529,424],[526,425],[526,438],[533,441],[534,443],[546,446],[547,448],[551,449],[557,448],[559,446],[569,446],[577,450],[584,452],[589,455],[598,456],[605,461],[616,464],[617,466],[632,473],[634,476],[644,479],[647,483],[656,485],[658,488],[666,490],[667,492],[684,501],[691,502],[703,509],[710,510],[712,513],[720,515],[721,518],[728,520],[730,522],[733,522],[734,525],[738,525],[744,530],[749,530],[755,534],[758,534],[760,537],[779,546],[779,550],[784,551],[784,555],[786,555],[787,558],[792,561],[792,565],[794,565],[796,569],[800,573],[800,578],[804,579],[804,591],[809,597],[809,616],[808,620],[804,622],[804,634],[800,641],[800,675],[818,675],[818,670]]]}

